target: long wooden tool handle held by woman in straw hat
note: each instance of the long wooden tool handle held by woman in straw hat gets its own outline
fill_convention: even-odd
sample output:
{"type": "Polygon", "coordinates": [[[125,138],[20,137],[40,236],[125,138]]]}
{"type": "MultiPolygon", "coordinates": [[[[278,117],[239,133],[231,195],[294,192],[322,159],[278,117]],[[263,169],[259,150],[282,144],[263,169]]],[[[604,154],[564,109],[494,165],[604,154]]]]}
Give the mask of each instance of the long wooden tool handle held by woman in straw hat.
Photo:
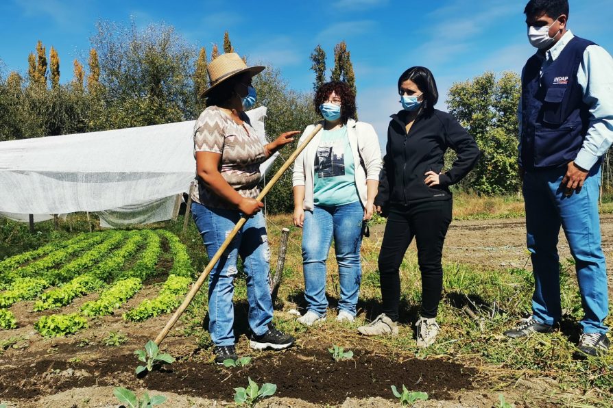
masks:
{"type": "MultiPolygon", "coordinates": [[[[300,146],[298,146],[298,149],[296,149],[296,151],[291,153],[291,156],[289,156],[289,159],[287,159],[287,162],[285,162],[283,166],[281,166],[281,168],[277,171],[274,177],[266,184],[266,186],[263,188],[260,194],[256,197],[257,201],[262,201],[264,196],[268,194],[270,189],[281,178],[281,176],[283,176],[283,173],[285,173],[285,170],[287,170],[289,166],[291,166],[294,160],[296,160],[296,157],[298,157],[298,155],[300,154],[300,152],[302,152],[302,150],[304,150],[306,145],[309,144],[309,142],[311,142],[311,140],[320,131],[320,129],[322,129],[321,123],[317,124],[317,126],[315,126],[315,129],[313,129],[313,132],[311,132],[311,134],[309,135],[309,137],[307,137],[306,140],[304,140],[304,142],[300,144],[300,146]]],[[[241,217],[239,222],[237,222],[237,225],[235,225],[234,229],[232,229],[232,231],[230,231],[230,233],[226,237],[226,240],[224,241],[224,243],[221,244],[221,246],[219,247],[215,255],[213,255],[213,257],[209,259],[208,264],[206,264],[206,268],[204,268],[204,270],[200,274],[200,277],[198,277],[198,279],[192,285],[191,290],[188,292],[183,303],[181,303],[179,308],[175,311],[175,313],[171,316],[170,320],[168,320],[168,322],[166,323],[166,326],[164,327],[164,329],[162,329],[162,331],[160,331],[160,333],[158,334],[158,337],[156,337],[155,342],[158,346],[160,345],[161,342],[164,341],[169,331],[173,328],[173,326],[179,320],[179,318],[181,317],[185,309],[187,309],[187,307],[193,300],[194,296],[197,294],[198,290],[200,290],[200,288],[202,287],[204,280],[206,279],[206,277],[208,277],[208,274],[211,272],[211,270],[213,270],[213,267],[215,266],[215,264],[217,264],[217,261],[219,261],[219,258],[221,258],[221,255],[224,254],[224,251],[226,251],[226,248],[228,248],[228,245],[230,245],[230,242],[232,242],[235,235],[237,235],[239,230],[243,227],[243,225],[245,225],[245,222],[247,222],[247,218],[241,217]]]]}

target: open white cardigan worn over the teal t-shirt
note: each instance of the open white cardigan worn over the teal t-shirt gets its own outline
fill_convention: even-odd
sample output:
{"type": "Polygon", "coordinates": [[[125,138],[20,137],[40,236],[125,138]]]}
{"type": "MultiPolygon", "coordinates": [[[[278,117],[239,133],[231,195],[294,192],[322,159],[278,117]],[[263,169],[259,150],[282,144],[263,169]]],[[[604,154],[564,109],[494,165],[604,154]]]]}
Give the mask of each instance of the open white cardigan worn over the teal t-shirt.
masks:
{"type": "MultiPolygon", "coordinates": [[[[378,181],[379,173],[381,172],[381,148],[379,147],[379,140],[372,125],[349,119],[346,126],[349,146],[353,153],[355,184],[359,192],[360,201],[362,205],[365,206],[367,199],[366,180],[378,181]],[[362,160],[364,163],[363,166],[361,165],[362,160]]],[[[307,126],[304,132],[302,132],[298,144],[302,144],[313,129],[315,129],[315,125],[307,126]]],[[[317,132],[313,140],[311,140],[309,145],[298,155],[296,162],[293,164],[292,184],[294,187],[304,186],[304,201],[302,202],[302,207],[310,211],[313,210],[315,154],[317,153],[317,146],[320,144],[322,134],[323,130],[317,132]]]]}

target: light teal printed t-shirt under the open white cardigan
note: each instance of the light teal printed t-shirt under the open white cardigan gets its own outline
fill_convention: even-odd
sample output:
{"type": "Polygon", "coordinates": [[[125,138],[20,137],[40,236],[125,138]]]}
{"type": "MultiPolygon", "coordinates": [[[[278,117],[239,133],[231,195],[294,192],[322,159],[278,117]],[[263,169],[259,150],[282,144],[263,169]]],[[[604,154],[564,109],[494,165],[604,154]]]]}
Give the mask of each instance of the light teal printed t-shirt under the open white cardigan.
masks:
{"type": "Polygon", "coordinates": [[[360,200],[347,127],[324,130],[315,154],[313,203],[333,206],[360,200]]]}

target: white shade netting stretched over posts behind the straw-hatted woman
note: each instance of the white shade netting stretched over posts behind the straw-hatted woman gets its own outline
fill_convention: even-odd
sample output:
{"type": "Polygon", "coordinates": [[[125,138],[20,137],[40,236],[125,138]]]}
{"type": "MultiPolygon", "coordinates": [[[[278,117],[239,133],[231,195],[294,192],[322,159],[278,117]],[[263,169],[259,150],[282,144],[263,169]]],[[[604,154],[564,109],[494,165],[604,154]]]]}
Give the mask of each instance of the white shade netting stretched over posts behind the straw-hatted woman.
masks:
{"type": "MultiPolygon", "coordinates": [[[[246,113],[266,140],[266,107],[246,113]]],[[[103,227],[168,220],[195,175],[194,123],[0,142],[0,215],[99,212],[103,227]]]]}

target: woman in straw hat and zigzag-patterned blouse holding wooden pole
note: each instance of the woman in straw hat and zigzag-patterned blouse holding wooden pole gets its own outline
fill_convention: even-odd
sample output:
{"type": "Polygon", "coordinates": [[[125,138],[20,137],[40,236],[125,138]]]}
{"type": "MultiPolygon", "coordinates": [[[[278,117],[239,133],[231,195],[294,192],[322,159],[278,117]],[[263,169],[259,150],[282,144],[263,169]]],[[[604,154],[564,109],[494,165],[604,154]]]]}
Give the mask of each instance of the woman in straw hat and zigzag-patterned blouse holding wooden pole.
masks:
{"type": "Polygon", "coordinates": [[[237,359],[232,295],[238,257],[247,275],[250,346],[280,350],[295,341],[272,324],[270,253],[260,213],[263,203],[255,197],[259,194],[259,164],[299,132],[283,133],[269,144],[262,144],[256,136],[243,110],[255,102],[251,80],[263,69],[247,66],[237,53],[219,55],[208,64],[211,84],[203,92],[208,107],[193,131],[197,188],[192,189],[191,211],[208,256],[213,257],[241,216],[249,217],[209,277],[208,330],[217,364],[237,359]]]}

